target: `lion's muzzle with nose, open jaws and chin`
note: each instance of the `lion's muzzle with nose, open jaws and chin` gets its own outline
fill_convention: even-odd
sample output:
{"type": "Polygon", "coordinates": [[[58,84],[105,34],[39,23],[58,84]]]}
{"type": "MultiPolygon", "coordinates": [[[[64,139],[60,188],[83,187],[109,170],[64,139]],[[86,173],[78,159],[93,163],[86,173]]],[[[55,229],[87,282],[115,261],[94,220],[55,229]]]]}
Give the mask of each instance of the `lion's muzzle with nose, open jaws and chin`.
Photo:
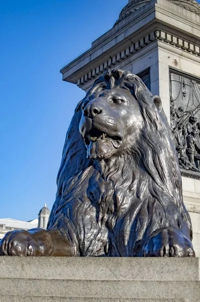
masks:
{"type": "Polygon", "coordinates": [[[90,159],[110,158],[123,141],[118,114],[106,98],[95,98],[82,108],[79,130],[90,159]]]}

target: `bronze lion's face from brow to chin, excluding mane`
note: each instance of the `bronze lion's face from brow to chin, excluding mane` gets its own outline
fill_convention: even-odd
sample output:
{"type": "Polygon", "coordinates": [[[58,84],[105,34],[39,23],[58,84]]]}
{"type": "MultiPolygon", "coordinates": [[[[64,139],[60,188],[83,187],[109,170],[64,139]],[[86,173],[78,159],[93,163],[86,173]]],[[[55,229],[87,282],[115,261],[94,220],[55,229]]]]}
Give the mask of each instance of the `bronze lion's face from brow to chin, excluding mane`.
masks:
{"type": "Polygon", "coordinates": [[[95,92],[82,104],[79,131],[87,158],[108,159],[134,144],[142,126],[136,99],[122,88],[95,92]]]}

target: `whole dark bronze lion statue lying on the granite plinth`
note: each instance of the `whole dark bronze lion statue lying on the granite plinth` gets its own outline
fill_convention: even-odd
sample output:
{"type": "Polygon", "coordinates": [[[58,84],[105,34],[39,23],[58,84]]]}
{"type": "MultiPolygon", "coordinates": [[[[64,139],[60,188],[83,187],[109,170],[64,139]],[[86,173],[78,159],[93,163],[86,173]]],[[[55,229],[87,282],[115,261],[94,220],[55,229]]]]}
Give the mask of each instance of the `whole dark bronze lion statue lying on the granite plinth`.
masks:
{"type": "Polygon", "coordinates": [[[107,70],[77,105],[47,230],[13,231],[1,255],[194,257],[192,228],[161,100],[107,70]]]}

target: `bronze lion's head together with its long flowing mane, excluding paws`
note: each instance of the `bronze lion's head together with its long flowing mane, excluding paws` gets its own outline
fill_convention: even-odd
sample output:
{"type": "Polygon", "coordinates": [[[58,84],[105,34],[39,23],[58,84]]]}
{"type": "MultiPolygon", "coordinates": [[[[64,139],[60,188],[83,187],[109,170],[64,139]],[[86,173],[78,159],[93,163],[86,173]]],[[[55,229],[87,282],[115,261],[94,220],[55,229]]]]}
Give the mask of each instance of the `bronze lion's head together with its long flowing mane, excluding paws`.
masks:
{"type": "Polygon", "coordinates": [[[57,185],[49,225],[57,223],[59,210],[77,194],[78,187],[78,194],[89,200],[95,196],[92,202],[101,204],[106,198],[100,218],[104,212],[115,213],[116,207],[118,211],[127,207],[129,214],[122,222],[127,242],[133,223],[138,225],[135,240],[147,229],[152,233],[164,225],[183,228],[186,224],[188,236],[192,236],[161,100],[129,71],[106,71],[77,105],[66,135],[57,185]],[[110,165],[103,177],[104,172],[99,172],[102,163],[110,165]],[[82,187],[85,179],[88,188],[82,187]],[[95,194],[89,193],[90,183],[97,188],[95,194]],[[81,187],[84,192],[80,192],[81,187]]]}

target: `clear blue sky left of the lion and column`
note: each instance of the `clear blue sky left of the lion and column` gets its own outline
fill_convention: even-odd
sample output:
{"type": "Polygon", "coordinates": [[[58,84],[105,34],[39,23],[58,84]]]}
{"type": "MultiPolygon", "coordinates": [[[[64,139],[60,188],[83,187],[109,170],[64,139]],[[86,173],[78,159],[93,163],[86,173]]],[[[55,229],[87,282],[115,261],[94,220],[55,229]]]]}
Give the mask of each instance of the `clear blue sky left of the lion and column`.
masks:
{"type": "Polygon", "coordinates": [[[60,68],[112,28],[128,0],[1,0],[0,218],[30,220],[56,194],[65,134],[85,93],[60,68]]]}

